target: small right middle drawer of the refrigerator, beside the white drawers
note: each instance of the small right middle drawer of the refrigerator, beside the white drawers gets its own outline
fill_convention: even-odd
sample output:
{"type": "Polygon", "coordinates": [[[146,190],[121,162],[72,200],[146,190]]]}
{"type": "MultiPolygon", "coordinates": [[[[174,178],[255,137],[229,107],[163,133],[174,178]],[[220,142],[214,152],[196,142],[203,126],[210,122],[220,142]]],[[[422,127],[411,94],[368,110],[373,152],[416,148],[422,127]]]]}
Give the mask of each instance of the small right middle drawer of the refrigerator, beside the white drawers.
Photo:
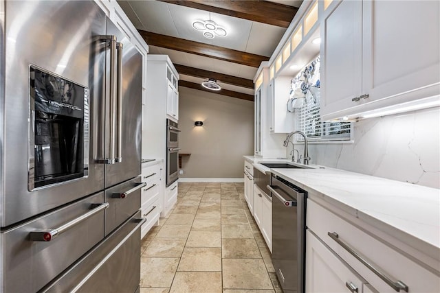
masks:
{"type": "Polygon", "coordinates": [[[105,191],[105,201],[110,204],[105,211],[105,235],[131,218],[140,209],[142,187],[140,176],[116,185],[105,191]]]}

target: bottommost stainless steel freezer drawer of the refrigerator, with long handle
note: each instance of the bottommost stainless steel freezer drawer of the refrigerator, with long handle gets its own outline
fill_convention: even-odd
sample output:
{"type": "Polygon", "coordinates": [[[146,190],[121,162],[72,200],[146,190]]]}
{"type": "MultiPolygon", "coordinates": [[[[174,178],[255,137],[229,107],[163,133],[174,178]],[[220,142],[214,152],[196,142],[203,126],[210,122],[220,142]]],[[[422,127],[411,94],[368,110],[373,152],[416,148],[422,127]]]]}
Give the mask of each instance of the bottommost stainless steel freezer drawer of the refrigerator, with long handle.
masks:
{"type": "Polygon", "coordinates": [[[133,293],[140,280],[140,212],[41,292],[133,293]]]}

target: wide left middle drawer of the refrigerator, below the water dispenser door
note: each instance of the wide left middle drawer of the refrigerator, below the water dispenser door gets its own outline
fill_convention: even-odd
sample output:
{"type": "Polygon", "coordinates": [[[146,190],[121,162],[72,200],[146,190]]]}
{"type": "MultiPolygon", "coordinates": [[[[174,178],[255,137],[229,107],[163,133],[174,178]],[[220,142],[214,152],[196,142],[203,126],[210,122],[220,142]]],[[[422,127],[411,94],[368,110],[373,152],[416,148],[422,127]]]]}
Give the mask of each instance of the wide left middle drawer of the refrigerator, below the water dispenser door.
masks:
{"type": "Polygon", "coordinates": [[[104,238],[104,192],[1,233],[1,292],[36,292],[104,238]]]}

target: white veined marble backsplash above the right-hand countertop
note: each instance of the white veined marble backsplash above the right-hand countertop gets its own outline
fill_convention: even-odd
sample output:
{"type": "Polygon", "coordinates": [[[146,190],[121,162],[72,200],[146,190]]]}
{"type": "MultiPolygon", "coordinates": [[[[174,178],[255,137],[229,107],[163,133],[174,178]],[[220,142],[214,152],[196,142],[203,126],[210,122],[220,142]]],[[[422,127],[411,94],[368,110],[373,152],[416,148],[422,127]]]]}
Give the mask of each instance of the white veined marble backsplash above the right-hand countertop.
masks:
{"type": "MultiPolygon", "coordinates": [[[[440,108],[358,121],[353,135],[354,143],[309,144],[311,163],[440,188],[440,108]]],[[[303,153],[302,143],[295,148],[303,153]]]]}

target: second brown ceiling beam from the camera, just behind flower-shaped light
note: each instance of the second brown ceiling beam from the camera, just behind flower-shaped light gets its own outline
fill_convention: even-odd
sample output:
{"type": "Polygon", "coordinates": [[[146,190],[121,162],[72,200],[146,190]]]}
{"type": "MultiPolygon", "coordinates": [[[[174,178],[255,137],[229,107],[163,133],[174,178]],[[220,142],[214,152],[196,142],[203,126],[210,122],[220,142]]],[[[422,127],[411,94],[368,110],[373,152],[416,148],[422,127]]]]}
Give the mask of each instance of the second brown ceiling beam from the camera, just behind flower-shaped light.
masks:
{"type": "Polygon", "coordinates": [[[261,62],[269,60],[269,57],[266,56],[208,45],[193,40],[185,40],[184,38],[175,38],[173,36],[165,36],[164,34],[146,32],[144,30],[138,30],[138,32],[148,45],[156,47],[182,51],[189,54],[215,58],[241,65],[248,65],[250,67],[259,67],[261,62]]]}

